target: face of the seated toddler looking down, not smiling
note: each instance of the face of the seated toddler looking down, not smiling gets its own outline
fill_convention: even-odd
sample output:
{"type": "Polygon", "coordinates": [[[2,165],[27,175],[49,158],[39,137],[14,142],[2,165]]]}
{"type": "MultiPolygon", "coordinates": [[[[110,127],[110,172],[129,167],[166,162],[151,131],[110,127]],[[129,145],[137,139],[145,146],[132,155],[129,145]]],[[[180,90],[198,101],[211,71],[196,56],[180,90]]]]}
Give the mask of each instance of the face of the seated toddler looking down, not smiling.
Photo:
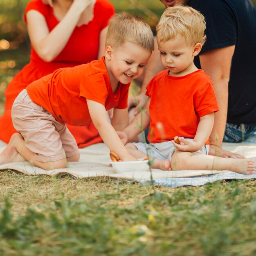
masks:
{"type": "Polygon", "coordinates": [[[178,35],[166,42],[159,42],[161,62],[171,76],[189,74],[194,67],[194,47],[187,45],[185,39],[178,35]]]}

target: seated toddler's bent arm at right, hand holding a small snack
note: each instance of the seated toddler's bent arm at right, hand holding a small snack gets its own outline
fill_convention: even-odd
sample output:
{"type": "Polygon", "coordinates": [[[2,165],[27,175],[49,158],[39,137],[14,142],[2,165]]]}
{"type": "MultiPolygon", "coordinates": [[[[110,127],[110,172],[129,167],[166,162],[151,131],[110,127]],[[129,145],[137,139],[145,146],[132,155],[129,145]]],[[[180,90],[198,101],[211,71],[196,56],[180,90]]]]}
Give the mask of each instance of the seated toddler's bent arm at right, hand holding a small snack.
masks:
{"type": "Polygon", "coordinates": [[[205,142],[207,141],[207,139],[211,134],[211,130],[213,128],[213,122],[214,122],[214,112],[211,112],[208,115],[200,117],[198,128],[196,130],[196,134],[193,141],[186,140],[182,137],[179,137],[181,144],[177,144],[175,143],[175,141],[172,141],[174,146],[181,151],[194,152],[194,151],[200,150],[200,148],[204,146],[205,142]]]}

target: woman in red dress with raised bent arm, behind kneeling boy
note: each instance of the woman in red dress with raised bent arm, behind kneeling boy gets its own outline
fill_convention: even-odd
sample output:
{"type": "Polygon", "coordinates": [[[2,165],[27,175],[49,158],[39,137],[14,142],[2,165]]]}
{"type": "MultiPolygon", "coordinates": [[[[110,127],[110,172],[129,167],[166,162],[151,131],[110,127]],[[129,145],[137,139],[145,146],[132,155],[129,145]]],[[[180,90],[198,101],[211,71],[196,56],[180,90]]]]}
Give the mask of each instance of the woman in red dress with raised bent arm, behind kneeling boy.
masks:
{"type": "MultiPolygon", "coordinates": [[[[114,12],[107,0],[32,0],[27,4],[24,19],[31,41],[30,62],[4,92],[5,111],[0,117],[2,141],[8,143],[16,132],[11,107],[27,85],[58,68],[88,63],[104,54],[108,20],[114,12]]],[[[67,127],[79,148],[102,141],[93,124],[67,127]]]]}

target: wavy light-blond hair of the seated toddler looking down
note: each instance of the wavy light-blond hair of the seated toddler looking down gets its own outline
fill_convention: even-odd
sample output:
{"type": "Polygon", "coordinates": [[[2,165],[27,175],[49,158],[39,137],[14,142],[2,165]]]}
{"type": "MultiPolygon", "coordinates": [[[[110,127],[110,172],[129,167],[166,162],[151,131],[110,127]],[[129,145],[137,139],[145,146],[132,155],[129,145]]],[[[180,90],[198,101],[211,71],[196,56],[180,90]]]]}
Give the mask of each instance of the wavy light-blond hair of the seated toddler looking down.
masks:
{"type": "Polygon", "coordinates": [[[188,45],[204,44],[206,29],[204,16],[189,6],[180,4],[166,8],[162,14],[157,29],[157,42],[166,42],[182,36],[188,45]]]}

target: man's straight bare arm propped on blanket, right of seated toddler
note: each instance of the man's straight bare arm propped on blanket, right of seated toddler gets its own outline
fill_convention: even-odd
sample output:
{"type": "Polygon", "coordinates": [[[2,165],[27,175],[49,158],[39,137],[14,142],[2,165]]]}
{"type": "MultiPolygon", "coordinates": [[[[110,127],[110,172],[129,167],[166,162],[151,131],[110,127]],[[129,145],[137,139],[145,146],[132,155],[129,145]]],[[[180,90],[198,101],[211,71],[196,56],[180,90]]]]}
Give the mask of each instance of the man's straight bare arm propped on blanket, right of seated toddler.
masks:
{"type": "Polygon", "coordinates": [[[210,135],[210,155],[243,158],[242,156],[221,149],[227,122],[228,83],[232,56],[235,45],[214,49],[200,55],[202,70],[210,76],[216,94],[219,111],[215,113],[213,130],[210,135]]]}

